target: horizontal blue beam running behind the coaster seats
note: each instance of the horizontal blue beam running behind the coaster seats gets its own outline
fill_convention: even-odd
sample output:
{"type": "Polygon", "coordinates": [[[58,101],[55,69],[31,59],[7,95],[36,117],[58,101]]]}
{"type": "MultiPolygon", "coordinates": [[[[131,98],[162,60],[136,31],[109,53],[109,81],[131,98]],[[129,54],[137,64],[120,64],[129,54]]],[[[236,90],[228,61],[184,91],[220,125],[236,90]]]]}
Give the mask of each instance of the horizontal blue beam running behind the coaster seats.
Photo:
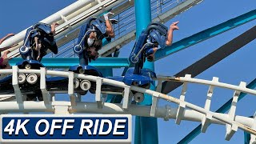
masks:
{"type": "MultiPolygon", "coordinates": [[[[22,58],[11,58],[10,65],[14,66],[17,62],[21,62],[22,58]]],[[[42,64],[49,68],[68,68],[78,65],[78,58],[42,58],[42,64]]],[[[96,61],[90,62],[90,66],[98,68],[121,68],[130,65],[128,58],[98,58],[96,61]]]]}

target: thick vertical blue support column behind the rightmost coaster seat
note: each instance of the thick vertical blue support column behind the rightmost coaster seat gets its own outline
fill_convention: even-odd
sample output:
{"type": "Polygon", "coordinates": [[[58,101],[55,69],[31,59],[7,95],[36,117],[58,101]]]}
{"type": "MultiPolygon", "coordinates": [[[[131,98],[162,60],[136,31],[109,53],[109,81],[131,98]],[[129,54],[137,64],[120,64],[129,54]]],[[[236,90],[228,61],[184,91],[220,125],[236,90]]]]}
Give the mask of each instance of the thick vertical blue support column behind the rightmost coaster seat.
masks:
{"type": "MultiPolygon", "coordinates": [[[[145,30],[151,22],[151,6],[150,0],[135,0],[135,18],[136,18],[136,38],[145,30]]],[[[143,68],[154,71],[154,62],[145,62],[143,68]]],[[[150,86],[150,90],[154,90],[154,86],[150,86]]],[[[144,101],[139,105],[152,105],[152,97],[145,95],[144,101]]],[[[158,119],[136,117],[135,118],[135,144],[157,144],[158,143],[158,119]]]]}

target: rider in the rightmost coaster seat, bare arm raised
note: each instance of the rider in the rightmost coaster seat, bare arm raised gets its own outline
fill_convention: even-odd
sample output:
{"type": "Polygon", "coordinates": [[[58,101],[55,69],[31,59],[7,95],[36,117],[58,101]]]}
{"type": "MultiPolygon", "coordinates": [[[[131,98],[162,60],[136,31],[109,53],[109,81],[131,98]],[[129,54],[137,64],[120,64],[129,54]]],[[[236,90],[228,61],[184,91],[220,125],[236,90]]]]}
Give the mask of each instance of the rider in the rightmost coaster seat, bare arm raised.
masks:
{"type": "MultiPolygon", "coordinates": [[[[167,33],[166,46],[170,46],[172,44],[172,42],[173,42],[173,32],[174,32],[174,30],[178,30],[178,26],[177,25],[178,25],[178,22],[173,22],[170,25],[170,28],[169,28],[168,33],[167,33]]],[[[147,39],[147,42],[150,42],[150,39],[147,39]]],[[[146,57],[149,62],[153,62],[154,61],[154,54],[160,48],[159,48],[159,46],[153,48],[153,50],[154,50],[153,54],[150,54],[150,55],[148,55],[146,57]]]]}

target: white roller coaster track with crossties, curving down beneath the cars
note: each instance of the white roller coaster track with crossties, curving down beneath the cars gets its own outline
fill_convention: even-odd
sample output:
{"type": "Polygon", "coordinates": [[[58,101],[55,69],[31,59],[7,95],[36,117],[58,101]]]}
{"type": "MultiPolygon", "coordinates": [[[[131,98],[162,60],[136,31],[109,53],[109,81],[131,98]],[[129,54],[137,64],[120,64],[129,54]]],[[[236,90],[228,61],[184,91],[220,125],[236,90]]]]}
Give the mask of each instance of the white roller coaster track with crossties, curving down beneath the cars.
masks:
{"type": "MultiPolygon", "coordinates": [[[[15,101],[12,102],[0,102],[0,113],[13,113],[13,112],[54,112],[54,114],[72,114],[72,113],[97,113],[97,114],[132,114],[143,117],[155,117],[174,118],[177,124],[180,124],[182,120],[188,120],[193,122],[202,122],[202,132],[206,132],[207,126],[210,123],[219,125],[226,125],[226,140],[234,135],[239,129],[244,130],[251,134],[251,143],[256,142],[256,119],[246,118],[243,116],[234,115],[236,110],[236,103],[238,102],[238,96],[241,92],[246,94],[256,95],[256,90],[250,90],[246,88],[246,83],[241,82],[239,86],[234,86],[222,82],[218,82],[218,78],[213,78],[212,81],[202,80],[197,78],[191,78],[189,74],[185,77],[174,78],[174,77],[163,77],[158,76],[157,91],[147,90],[138,86],[127,86],[123,82],[114,81],[108,78],[99,78],[84,74],[74,74],[73,72],[63,72],[46,70],[22,70],[18,69],[18,66],[13,66],[10,70],[0,70],[1,74],[12,74],[12,84],[14,86],[15,101]],[[18,86],[18,74],[37,74],[40,76],[40,89],[42,90],[43,102],[30,102],[24,101],[23,94],[18,86]],[[50,76],[61,76],[69,78],[67,94],[70,95],[70,102],[55,101],[54,94],[50,94],[46,90],[46,75],[50,76]],[[96,94],[95,102],[81,102],[81,95],[74,93],[74,78],[82,80],[89,80],[96,82],[96,94]],[[161,90],[162,81],[178,81],[183,82],[182,93],[180,98],[174,98],[172,96],[161,94],[158,91],[161,90]],[[205,107],[195,106],[190,102],[185,101],[186,88],[188,83],[198,83],[209,86],[207,93],[205,107]],[[123,101],[120,104],[104,102],[106,94],[102,94],[101,86],[107,84],[110,86],[118,86],[123,88],[123,101]],[[221,87],[230,90],[234,90],[233,104],[228,114],[219,114],[210,111],[210,102],[214,92],[214,87],[221,87]],[[143,94],[150,94],[153,98],[152,106],[138,106],[131,104],[132,95],[130,90],[140,92],[143,94]],[[178,104],[178,108],[165,106],[158,106],[158,99],[164,99],[168,102],[174,102],[178,104]]],[[[8,95],[3,95],[6,98],[8,95]]],[[[2,98],[2,97],[1,97],[2,98]]]]}

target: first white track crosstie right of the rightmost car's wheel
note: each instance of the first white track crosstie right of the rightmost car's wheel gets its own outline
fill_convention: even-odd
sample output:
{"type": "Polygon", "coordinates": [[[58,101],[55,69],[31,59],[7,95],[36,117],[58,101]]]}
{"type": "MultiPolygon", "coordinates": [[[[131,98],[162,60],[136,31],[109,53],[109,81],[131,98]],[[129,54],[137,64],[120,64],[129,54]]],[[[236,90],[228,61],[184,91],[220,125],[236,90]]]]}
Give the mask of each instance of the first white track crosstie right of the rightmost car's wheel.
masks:
{"type": "MultiPolygon", "coordinates": [[[[158,86],[157,86],[157,89],[156,91],[161,93],[161,90],[162,90],[162,80],[159,80],[158,81],[158,86]]],[[[157,110],[157,107],[158,107],[158,100],[159,100],[159,95],[158,94],[153,94],[153,97],[152,97],[152,105],[151,105],[151,109],[150,109],[150,116],[151,117],[154,117],[155,116],[155,112],[157,110]]]]}

